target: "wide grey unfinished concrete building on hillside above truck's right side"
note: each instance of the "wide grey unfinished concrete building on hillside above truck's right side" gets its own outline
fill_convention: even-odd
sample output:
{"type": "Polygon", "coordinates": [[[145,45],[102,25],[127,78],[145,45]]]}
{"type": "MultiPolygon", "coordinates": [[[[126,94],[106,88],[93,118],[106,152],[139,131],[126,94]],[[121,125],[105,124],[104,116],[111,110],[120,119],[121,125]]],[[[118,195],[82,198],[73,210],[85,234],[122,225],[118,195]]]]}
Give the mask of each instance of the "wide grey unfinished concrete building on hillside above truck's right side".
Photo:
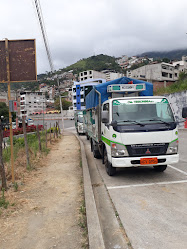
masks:
{"type": "Polygon", "coordinates": [[[172,64],[162,62],[129,70],[127,77],[149,81],[176,81],[179,77],[179,70],[172,64]]]}

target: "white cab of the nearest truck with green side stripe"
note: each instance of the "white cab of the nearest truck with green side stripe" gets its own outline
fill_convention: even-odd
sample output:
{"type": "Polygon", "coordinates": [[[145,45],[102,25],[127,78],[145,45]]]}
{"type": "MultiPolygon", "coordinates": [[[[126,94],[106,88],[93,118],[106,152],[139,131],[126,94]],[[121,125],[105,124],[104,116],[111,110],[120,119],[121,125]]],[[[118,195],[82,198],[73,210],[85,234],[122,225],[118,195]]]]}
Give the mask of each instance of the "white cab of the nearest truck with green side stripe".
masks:
{"type": "Polygon", "coordinates": [[[101,134],[109,175],[117,167],[153,166],[164,171],[167,164],[179,161],[177,123],[165,97],[105,101],[101,134]]]}

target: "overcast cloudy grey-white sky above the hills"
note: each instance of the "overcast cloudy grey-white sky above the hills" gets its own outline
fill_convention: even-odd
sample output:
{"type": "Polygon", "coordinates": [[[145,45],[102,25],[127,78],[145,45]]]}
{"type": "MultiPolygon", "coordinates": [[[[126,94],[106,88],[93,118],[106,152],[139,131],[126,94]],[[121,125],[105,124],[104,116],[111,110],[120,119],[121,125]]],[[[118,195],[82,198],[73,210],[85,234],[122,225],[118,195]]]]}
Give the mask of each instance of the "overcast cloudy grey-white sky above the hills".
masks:
{"type": "MultiPolygon", "coordinates": [[[[98,54],[187,48],[187,0],[40,0],[54,69],[98,54]]],[[[0,0],[0,40],[36,39],[50,71],[34,0],[0,0]]]]}

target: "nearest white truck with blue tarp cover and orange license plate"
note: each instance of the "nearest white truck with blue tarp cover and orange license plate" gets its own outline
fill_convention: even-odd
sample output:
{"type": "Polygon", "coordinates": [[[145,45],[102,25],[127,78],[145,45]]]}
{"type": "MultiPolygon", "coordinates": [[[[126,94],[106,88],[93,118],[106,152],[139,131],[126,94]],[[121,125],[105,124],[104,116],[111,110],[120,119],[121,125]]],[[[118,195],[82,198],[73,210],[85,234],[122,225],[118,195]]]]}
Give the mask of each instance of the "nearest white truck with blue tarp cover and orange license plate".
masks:
{"type": "Polygon", "coordinates": [[[123,77],[86,96],[86,134],[109,176],[119,167],[153,166],[162,172],[179,161],[172,108],[167,98],[152,95],[151,83],[123,77]]]}

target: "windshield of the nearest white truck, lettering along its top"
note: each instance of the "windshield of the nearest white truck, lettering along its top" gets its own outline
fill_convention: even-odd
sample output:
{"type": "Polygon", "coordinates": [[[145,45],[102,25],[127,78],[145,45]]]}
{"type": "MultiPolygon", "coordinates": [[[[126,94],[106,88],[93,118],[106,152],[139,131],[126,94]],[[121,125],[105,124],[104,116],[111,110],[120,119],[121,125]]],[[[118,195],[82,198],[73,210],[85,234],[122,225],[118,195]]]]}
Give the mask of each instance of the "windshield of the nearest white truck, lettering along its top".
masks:
{"type": "Polygon", "coordinates": [[[135,123],[135,121],[141,124],[168,124],[175,120],[167,99],[163,98],[114,100],[113,121],[117,121],[118,124],[135,123]]]}

